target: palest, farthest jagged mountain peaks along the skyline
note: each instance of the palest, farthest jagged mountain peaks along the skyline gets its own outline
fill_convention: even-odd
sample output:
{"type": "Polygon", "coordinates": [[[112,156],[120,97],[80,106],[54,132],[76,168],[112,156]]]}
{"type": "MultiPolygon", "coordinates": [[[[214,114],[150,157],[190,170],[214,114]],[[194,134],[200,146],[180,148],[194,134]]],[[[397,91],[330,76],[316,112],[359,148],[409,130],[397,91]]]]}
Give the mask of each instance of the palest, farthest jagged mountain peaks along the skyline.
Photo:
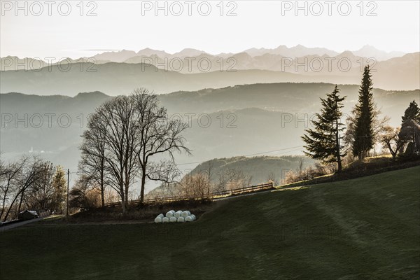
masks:
{"type": "MultiPolygon", "coordinates": [[[[405,55],[405,52],[385,52],[383,50],[378,50],[371,45],[365,45],[360,50],[349,51],[346,50],[341,53],[341,55],[351,54],[351,56],[356,57],[365,57],[365,58],[374,58],[377,61],[383,61],[391,59],[393,57],[401,57],[405,55]]],[[[153,50],[151,48],[145,48],[135,52],[134,50],[119,50],[119,51],[109,51],[101,52],[93,57],[80,57],[78,59],[66,58],[67,61],[75,63],[82,61],[90,61],[97,64],[103,64],[107,62],[125,62],[125,63],[148,63],[150,59],[153,59],[153,62],[156,64],[162,64],[165,62],[165,59],[182,59],[186,63],[188,58],[195,59],[210,59],[213,63],[210,71],[216,71],[220,69],[220,63],[217,63],[218,59],[228,59],[230,57],[235,57],[239,59],[239,68],[235,69],[263,69],[263,70],[274,70],[279,71],[280,68],[276,68],[274,65],[270,65],[265,60],[275,61],[281,60],[281,58],[303,58],[303,57],[337,57],[340,55],[339,52],[334,50],[328,50],[327,48],[307,48],[304,45],[296,45],[294,47],[288,48],[286,45],[279,45],[277,48],[250,48],[242,52],[237,53],[220,53],[217,55],[211,55],[204,50],[195,50],[193,48],[186,48],[180,52],[175,52],[170,54],[164,50],[153,50]],[[157,59],[155,61],[155,59],[157,59]]],[[[59,59],[62,57],[56,58],[56,61],[53,61],[52,64],[56,64],[59,59]]],[[[226,62],[225,62],[226,63],[226,62]]],[[[273,63],[272,63],[273,64],[273,63]]],[[[275,63],[274,63],[275,64],[275,63]]],[[[15,69],[41,69],[44,66],[48,66],[48,62],[43,61],[42,59],[36,59],[31,57],[19,58],[15,56],[8,56],[1,58],[1,71],[15,70],[15,69]],[[15,66],[17,64],[18,66],[15,66]]],[[[229,65],[225,66],[225,69],[229,65]]],[[[170,68],[170,67],[169,67],[170,68]]],[[[186,67],[187,69],[187,67],[186,67]]],[[[186,69],[181,71],[182,73],[187,73],[186,69]]],[[[170,69],[169,69],[170,70],[170,69]]],[[[193,73],[197,72],[197,62],[193,65],[193,73]]]]}

